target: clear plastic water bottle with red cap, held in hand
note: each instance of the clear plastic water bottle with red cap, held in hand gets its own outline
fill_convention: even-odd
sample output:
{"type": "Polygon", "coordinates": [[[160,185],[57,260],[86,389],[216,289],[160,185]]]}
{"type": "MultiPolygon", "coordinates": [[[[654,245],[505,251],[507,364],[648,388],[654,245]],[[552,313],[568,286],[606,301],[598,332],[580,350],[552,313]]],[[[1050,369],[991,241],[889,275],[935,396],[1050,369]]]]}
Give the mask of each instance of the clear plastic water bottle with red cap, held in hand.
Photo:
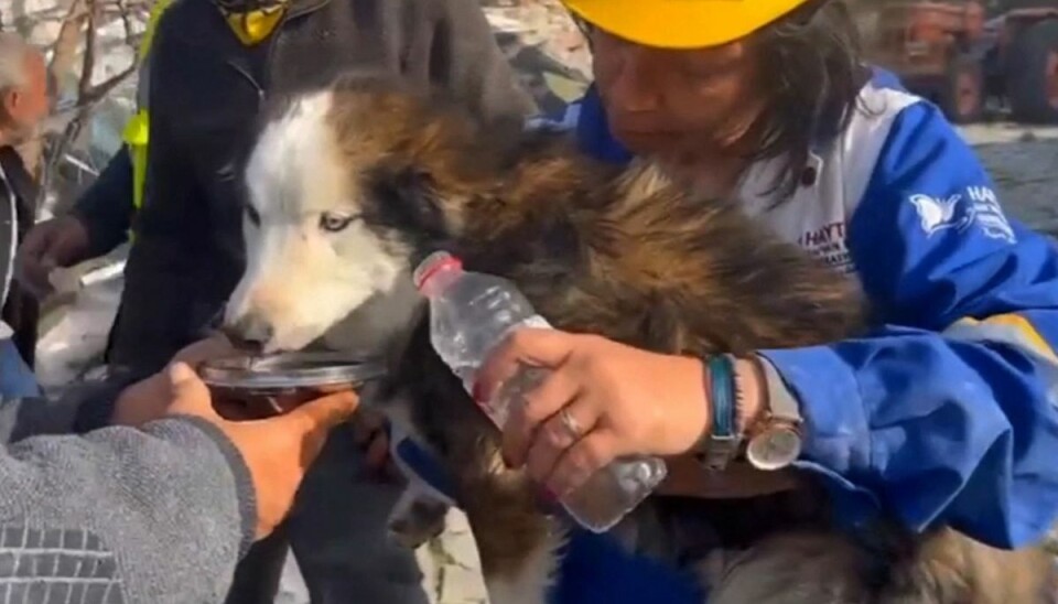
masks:
{"type": "MultiPolygon", "coordinates": [[[[446,252],[423,260],[414,280],[430,301],[430,341],[467,392],[478,368],[508,333],[519,327],[550,328],[514,283],[464,271],[462,262],[446,252]]],[[[488,402],[486,413],[493,422],[503,428],[511,406],[521,405],[522,393],[537,387],[548,374],[547,369],[523,366],[488,402]]],[[[618,460],[596,472],[561,504],[577,524],[603,532],[650,495],[666,473],[659,457],[618,460]]]]}

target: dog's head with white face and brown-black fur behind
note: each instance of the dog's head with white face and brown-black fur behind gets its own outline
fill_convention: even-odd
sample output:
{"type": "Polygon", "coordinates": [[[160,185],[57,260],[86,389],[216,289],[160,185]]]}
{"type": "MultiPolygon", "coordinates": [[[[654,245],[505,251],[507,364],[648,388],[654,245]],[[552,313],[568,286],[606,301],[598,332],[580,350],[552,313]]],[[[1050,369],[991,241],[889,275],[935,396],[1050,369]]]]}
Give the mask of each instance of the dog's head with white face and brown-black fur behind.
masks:
{"type": "Polygon", "coordinates": [[[365,76],[270,112],[245,170],[247,268],[228,332],[278,352],[341,325],[336,345],[382,352],[417,309],[413,265],[461,228],[469,194],[436,174],[473,128],[365,76]]]}

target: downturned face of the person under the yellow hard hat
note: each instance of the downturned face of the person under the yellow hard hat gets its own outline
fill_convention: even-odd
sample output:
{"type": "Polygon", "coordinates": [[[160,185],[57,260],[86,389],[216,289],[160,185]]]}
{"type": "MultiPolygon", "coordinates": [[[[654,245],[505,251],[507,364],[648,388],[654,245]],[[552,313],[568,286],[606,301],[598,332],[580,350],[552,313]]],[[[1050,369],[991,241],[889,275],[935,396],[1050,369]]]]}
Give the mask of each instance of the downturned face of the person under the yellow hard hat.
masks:
{"type": "Polygon", "coordinates": [[[693,161],[723,151],[760,111],[753,45],[652,48],[590,31],[595,82],[614,136],[631,152],[693,161]]]}

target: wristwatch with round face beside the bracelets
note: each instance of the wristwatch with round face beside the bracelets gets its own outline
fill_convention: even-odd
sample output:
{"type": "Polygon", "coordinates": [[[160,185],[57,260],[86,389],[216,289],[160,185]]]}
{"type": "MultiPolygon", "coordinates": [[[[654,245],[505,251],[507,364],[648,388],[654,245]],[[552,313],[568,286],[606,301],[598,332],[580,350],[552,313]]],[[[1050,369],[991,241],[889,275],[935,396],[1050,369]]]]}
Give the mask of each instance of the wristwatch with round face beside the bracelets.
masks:
{"type": "Polygon", "coordinates": [[[757,470],[787,467],[801,455],[803,418],[779,373],[766,359],[757,357],[768,395],[764,418],[751,427],[746,460],[757,470]]]}

